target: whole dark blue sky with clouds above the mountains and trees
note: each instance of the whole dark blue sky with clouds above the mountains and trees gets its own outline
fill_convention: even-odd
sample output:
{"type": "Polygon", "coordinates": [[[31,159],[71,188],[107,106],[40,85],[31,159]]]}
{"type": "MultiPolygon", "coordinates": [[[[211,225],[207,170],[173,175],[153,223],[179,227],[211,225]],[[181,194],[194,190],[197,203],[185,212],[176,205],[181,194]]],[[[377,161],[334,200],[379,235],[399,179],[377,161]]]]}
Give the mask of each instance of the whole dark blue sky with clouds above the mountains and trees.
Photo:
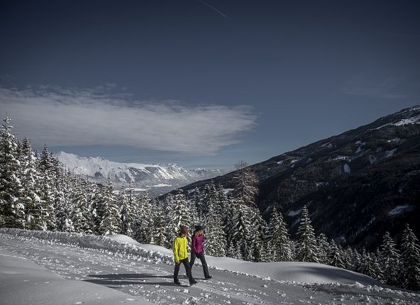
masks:
{"type": "Polygon", "coordinates": [[[418,1],[2,1],[0,113],[55,151],[260,162],[419,104],[419,15],[418,1]]]}

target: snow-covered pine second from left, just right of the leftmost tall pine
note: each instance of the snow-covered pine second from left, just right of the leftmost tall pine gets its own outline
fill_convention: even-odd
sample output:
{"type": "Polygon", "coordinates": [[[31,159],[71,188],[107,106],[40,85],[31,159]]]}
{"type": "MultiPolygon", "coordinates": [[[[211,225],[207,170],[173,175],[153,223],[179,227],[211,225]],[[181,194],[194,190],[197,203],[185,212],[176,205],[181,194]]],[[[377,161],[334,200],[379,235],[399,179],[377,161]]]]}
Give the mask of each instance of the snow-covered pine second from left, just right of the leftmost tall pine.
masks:
{"type": "Polygon", "coordinates": [[[19,162],[21,164],[19,179],[21,181],[21,203],[25,206],[25,228],[29,230],[40,230],[40,197],[39,194],[39,174],[36,170],[37,160],[31,148],[28,138],[23,138],[21,142],[21,154],[19,162]]]}

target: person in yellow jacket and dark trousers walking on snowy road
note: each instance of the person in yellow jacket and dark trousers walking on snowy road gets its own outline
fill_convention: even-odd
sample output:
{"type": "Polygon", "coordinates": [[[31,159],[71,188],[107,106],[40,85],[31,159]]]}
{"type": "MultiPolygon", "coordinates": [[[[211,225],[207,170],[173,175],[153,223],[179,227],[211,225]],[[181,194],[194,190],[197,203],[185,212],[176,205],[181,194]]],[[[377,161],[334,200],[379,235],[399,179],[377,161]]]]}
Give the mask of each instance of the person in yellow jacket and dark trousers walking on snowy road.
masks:
{"type": "Polygon", "coordinates": [[[174,270],[174,283],[179,285],[181,284],[178,280],[179,267],[181,262],[185,267],[187,272],[187,277],[189,279],[189,284],[196,284],[197,281],[192,277],[191,268],[189,267],[188,253],[187,253],[187,234],[188,228],[186,226],[181,226],[179,228],[179,233],[175,237],[174,246],[172,250],[174,251],[174,260],[175,260],[175,270],[174,270]]]}

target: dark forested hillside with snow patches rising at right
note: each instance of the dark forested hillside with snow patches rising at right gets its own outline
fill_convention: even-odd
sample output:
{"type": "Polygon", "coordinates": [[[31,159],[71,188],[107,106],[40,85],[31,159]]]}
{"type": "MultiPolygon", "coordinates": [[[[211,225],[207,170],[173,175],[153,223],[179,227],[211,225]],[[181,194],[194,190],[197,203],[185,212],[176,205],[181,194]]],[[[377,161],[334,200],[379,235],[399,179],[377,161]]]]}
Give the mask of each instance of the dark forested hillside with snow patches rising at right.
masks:
{"type": "MultiPolygon", "coordinates": [[[[251,167],[258,177],[260,211],[268,218],[267,208],[276,206],[292,233],[304,205],[316,232],[343,244],[374,249],[378,236],[401,232],[404,223],[420,233],[419,106],[251,167]]],[[[212,180],[229,189],[234,175],[212,180]]]]}

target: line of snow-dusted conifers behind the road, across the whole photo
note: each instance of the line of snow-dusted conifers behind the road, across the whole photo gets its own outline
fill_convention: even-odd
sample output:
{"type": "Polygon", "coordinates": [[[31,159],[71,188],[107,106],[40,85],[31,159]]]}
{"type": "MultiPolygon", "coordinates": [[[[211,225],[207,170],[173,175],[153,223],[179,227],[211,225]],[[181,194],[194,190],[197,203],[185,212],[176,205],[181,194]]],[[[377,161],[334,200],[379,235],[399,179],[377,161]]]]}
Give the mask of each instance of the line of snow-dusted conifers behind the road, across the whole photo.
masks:
{"type": "Polygon", "coordinates": [[[0,227],[126,234],[140,243],[170,248],[181,224],[206,226],[206,254],[253,262],[320,262],[363,273],[382,282],[420,290],[420,250],[407,226],[397,249],[386,233],[375,253],[342,248],[324,233],[316,235],[309,211],[302,210],[296,240],[275,208],[267,223],[256,208],[255,174],[238,164],[235,189],[207,184],[189,195],[162,201],[135,195],[133,189],[99,186],[65,170],[47,148],[38,153],[27,138],[18,141],[4,118],[0,135],[0,227]],[[228,192],[227,192],[228,191],[228,192]]]}

